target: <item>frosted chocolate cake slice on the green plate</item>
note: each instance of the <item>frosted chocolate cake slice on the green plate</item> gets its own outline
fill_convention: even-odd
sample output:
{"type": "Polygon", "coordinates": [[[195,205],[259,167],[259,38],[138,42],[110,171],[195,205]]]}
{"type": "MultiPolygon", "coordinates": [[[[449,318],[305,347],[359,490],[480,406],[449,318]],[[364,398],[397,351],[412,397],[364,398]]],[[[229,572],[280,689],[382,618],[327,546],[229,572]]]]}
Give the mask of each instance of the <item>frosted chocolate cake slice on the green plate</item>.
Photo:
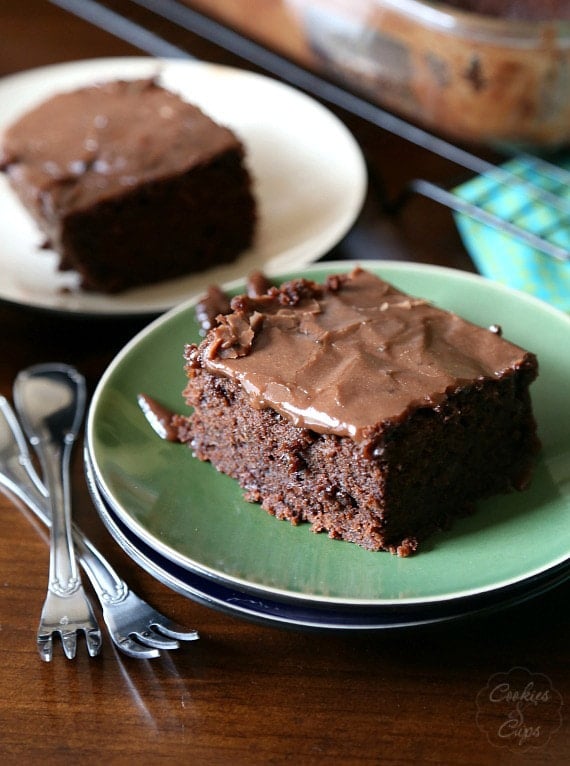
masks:
{"type": "Polygon", "coordinates": [[[294,524],[409,555],[523,489],[536,357],[356,269],[239,296],[185,352],[181,441],[294,524]]]}

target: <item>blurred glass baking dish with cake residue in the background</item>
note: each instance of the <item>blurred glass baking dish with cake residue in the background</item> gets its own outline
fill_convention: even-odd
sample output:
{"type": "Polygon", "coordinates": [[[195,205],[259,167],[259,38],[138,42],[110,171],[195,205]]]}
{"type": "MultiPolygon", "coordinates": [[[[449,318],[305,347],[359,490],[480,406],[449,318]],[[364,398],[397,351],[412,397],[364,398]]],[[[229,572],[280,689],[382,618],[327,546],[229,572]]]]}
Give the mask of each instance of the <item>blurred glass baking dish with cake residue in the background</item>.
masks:
{"type": "Polygon", "coordinates": [[[423,127],[493,146],[570,140],[570,20],[421,0],[287,4],[323,72],[423,127]]]}

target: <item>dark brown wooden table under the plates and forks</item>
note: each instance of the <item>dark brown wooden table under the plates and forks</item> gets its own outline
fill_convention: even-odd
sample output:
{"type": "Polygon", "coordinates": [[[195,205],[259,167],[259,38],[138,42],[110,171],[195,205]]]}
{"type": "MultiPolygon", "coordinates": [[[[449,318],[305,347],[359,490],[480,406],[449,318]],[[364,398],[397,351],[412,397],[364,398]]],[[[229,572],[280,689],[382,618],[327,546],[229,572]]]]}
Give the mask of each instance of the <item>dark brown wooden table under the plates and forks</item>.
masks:
{"type": "MultiPolygon", "coordinates": [[[[194,55],[235,63],[192,35],[183,42],[194,55]]],[[[0,75],[140,53],[48,2],[6,0],[0,7],[0,75]]],[[[424,150],[341,116],[388,187],[398,187],[408,174],[446,171],[441,159],[424,150]]],[[[374,191],[333,255],[472,268],[447,210],[418,199],[400,216],[388,217],[374,191]]],[[[144,324],[3,305],[0,393],[10,398],[18,370],[48,360],[76,365],[93,390],[144,324]]],[[[570,702],[568,583],[517,607],[439,626],[369,634],[281,630],[198,605],[133,563],[93,509],[80,449],[73,461],[73,499],[81,527],[133,588],[199,629],[201,640],[153,661],[120,656],[109,640],[94,660],[81,645],[77,658],[67,661],[56,646],[54,660],[42,663],[35,631],[48,548],[30,516],[0,495],[3,763],[570,762],[567,714],[559,726],[566,710],[560,704],[570,702]],[[512,732],[500,736],[508,716],[504,700],[489,724],[493,677],[513,680],[516,668],[523,669],[516,683],[527,678],[538,685],[546,677],[551,689],[539,722],[540,747],[531,746],[532,732],[526,740],[521,732],[518,739],[512,732]]],[[[532,724],[532,710],[526,711],[532,724]]]]}

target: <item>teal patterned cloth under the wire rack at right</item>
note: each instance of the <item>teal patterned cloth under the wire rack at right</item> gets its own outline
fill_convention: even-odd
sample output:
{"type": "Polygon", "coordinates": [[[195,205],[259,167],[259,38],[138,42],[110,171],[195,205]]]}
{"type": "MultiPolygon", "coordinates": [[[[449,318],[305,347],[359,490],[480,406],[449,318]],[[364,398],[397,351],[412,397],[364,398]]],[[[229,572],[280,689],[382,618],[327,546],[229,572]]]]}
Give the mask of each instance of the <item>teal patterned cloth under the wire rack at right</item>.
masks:
{"type": "MultiPolygon", "coordinates": [[[[570,156],[556,164],[517,157],[454,189],[462,200],[510,221],[570,255],[570,156]]],[[[570,312],[570,260],[461,212],[455,220],[478,271],[570,312]]]]}

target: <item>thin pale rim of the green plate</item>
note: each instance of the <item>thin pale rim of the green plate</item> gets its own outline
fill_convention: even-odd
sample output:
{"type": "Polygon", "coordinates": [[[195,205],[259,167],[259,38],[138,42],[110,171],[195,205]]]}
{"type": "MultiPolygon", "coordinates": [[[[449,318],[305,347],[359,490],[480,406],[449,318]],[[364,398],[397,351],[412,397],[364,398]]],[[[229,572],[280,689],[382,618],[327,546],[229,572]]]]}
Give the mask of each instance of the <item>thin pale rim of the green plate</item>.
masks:
{"type": "MultiPolygon", "coordinates": [[[[452,269],[446,266],[422,264],[422,263],[414,263],[414,262],[390,261],[390,260],[374,261],[374,262],[324,261],[320,263],[313,263],[307,268],[310,269],[312,272],[329,273],[335,270],[348,271],[352,268],[359,267],[359,266],[362,266],[362,268],[366,268],[367,266],[372,266],[376,270],[385,269],[386,272],[388,272],[385,275],[388,280],[390,279],[390,271],[393,272],[395,270],[397,272],[404,271],[404,272],[413,272],[413,273],[418,273],[418,272],[430,273],[435,275],[436,277],[448,276],[448,277],[452,277],[453,279],[459,279],[461,281],[464,281],[465,283],[477,282],[480,285],[484,284],[484,285],[492,287],[498,293],[508,293],[512,295],[516,300],[521,300],[523,303],[529,303],[531,305],[534,304],[539,311],[546,311],[547,313],[551,313],[557,320],[561,320],[567,325],[568,332],[570,334],[570,316],[569,315],[565,314],[559,309],[556,309],[546,304],[544,301],[538,298],[535,298],[534,296],[529,296],[527,294],[520,293],[517,290],[511,289],[502,284],[493,282],[489,280],[488,278],[483,277],[479,274],[473,274],[471,272],[463,272],[463,271],[452,269]]],[[[294,271],[295,270],[293,270],[293,272],[294,271]]],[[[290,274],[291,274],[291,270],[284,270],[281,276],[287,277],[290,274]]],[[[274,276],[276,279],[279,279],[280,277],[279,274],[274,276]]],[[[223,288],[227,290],[239,289],[240,286],[244,285],[244,281],[245,280],[243,278],[232,280],[231,282],[228,282],[225,285],[223,285],[223,288]]],[[[191,565],[188,565],[188,563],[186,563],[187,562],[186,557],[176,553],[176,551],[173,551],[171,548],[166,546],[161,541],[153,541],[152,540],[153,536],[149,534],[148,531],[145,530],[144,527],[142,527],[136,521],[136,519],[129,518],[128,515],[125,518],[123,518],[125,510],[122,508],[119,508],[119,506],[116,505],[115,500],[112,497],[112,493],[109,491],[107,487],[107,483],[105,482],[104,477],[100,473],[100,470],[97,466],[96,456],[94,455],[94,452],[93,452],[93,441],[94,441],[93,432],[95,428],[95,422],[94,422],[95,411],[97,408],[97,401],[102,391],[105,389],[108,379],[114,374],[115,369],[119,367],[123,359],[130,354],[131,350],[136,348],[138,344],[146,338],[147,335],[152,334],[155,328],[160,327],[163,323],[170,321],[170,319],[176,317],[178,314],[188,311],[196,304],[196,302],[197,302],[196,297],[192,297],[188,299],[187,301],[174,307],[173,309],[171,309],[169,312],[162,315],[161,317],[158,317],[149,325],[147,325],[145,328],[143,328],[141,331],[139,331],[123,347],[123,349],[119,351],[119,353],[115,356],[111,364],[103,373],[99,381],[99,384],[93,394],[93,398],[88,410],[87,427],[86,427],[86,449],[88,451],[88,454],[90,456],[90,459],[93,465],[93,471],[94,471],[95,480],[97,482],[97,486],[100,492],[103,494],[105,501],[109,503],[110,505],[112,505],[118,517],[125,523],[125,525],[129,529],[131,529],[138,537],[140,537],[145,543],[155,547],[158,553],[170,559],[173,563],[177,565],[181,565],[183,567],[187,567],[190,571],[194,571],[198,573],[200,576],[207,577],[214,580],[219,580],[222,583],[229,583],[230,585],[234,587],[239,586],[240,588],[245,588],[252,593],[265,594],[269,596],[273,595],[274,597],[293,599],[293,600],[302,601],[304,603],[321,604],[325,607],[330,604],[346,605],[346,606],[354,605],[354,606],[363,607],[363,606],[380,606],[380,605],[401,606],[404,604],[409,606],[414,606],[414,605],[419,606],[422,604],[444,603],[448,601],[457,600],[458,598],[473,597],[473,596],[484,594],[484,593],[491,593],[493,591],[498,590],[499,588],[515,585],[517,582],[521,582],[527,577],[538,576],[542,573],[549,571],[553,567],[556,567],[560,564],[565,563],[566,561],[570,559],[570,553],[566,553],[565,555],[561,555],[555,560],[550,560],[548,563],[542,566],[536,566],[532,570],[527,570],[521,575],[505,578],[500,580],[499,582],[490,583],[489,585],[484,587],[474,587],[474,588],[463,589],[458,592],[448,592],[435,598],[433,596],[419,596],[419,597],[412,596],[412,597],[386,598],[386,599],[355,598],[355,599],[347,600],[346,598],[342,598],[342,597],[323,598],[322,596],[319,596],[319,595],[297,593],[297,592],[292,592],[292,591],[284,590],[280,588],[260,585],[258,583],[244,580],[243,578],[235,577],[233,575],[227,575],[223,572],[218,572],[216,570],[213,570],[210,567],[204,567],[201,564],[196,562],[193,562],[191,565]]]]}

